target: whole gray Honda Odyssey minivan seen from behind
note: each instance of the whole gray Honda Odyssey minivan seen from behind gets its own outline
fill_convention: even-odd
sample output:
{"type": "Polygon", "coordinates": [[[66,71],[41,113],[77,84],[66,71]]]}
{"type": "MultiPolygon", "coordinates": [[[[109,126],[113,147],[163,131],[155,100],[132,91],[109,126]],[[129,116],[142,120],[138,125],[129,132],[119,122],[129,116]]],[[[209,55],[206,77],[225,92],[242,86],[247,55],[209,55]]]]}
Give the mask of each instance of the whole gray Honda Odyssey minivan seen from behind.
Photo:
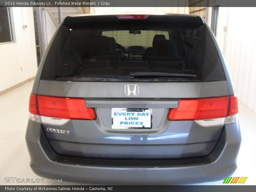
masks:
{"type": "Polygon", "coordinates": [[[81,15],[38,68],[26,141],[32,170],[87,184],[224,180],[236,169],[237,98],[195,15],[81,15]]]}

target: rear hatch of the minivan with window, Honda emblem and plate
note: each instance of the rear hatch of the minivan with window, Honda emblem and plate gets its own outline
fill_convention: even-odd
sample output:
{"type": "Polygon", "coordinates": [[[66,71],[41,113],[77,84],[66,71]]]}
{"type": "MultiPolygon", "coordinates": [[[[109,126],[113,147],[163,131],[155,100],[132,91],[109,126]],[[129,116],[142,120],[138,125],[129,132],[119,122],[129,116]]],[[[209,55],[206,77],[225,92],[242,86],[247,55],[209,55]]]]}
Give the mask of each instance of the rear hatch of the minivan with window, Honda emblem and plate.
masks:
{"type": "Polygon", "coordinates": [[[128,16],[67,17],[61,24],[36,95],[52,148],[90,158],[210,154],[231,102],[212,32],[199,16],[128,16]],[[170,118],[174,109],[187,113],[188,101],[201,115],[170,118]]]}

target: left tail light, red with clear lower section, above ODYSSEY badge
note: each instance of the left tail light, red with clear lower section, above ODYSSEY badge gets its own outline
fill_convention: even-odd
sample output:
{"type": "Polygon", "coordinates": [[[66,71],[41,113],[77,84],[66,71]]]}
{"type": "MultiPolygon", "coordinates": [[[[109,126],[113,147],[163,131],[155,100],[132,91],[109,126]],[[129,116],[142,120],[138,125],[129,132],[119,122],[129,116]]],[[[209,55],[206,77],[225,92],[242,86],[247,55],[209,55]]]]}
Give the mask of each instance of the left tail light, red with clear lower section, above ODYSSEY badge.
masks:
{"type": "MultiPolygon", "coordinates": [[[[65,98],[31,94],[29,112],[30,114],[41,116],[44,123],[47,123],[51,119],[52,122],[55,123],[57,119],[97,119],[94,108],[87,108],[83,98],[65,98]]],[[[57,122],[63,124],[64,121],[57,122]]]]}

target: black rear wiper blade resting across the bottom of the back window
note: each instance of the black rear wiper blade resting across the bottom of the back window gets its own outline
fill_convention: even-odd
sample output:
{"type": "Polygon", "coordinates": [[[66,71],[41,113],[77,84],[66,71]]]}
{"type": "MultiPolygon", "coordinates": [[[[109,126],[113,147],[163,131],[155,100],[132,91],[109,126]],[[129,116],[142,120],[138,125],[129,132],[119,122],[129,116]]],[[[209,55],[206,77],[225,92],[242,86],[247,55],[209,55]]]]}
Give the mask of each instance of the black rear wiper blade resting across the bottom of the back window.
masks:
{"type": "Polygon", "coordinates": [[[197,75],[183,73],[162,73],[162,72],[131,72],[130,78],[134,77],[196,77],[197,75]]]}

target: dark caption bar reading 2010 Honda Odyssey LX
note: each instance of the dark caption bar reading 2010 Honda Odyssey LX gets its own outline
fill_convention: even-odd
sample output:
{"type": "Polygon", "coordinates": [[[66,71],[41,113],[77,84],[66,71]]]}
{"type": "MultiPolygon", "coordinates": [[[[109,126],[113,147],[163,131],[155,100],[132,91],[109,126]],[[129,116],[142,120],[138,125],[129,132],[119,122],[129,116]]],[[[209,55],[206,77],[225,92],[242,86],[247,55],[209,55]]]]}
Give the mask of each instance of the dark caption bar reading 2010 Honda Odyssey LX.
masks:
{"type": "Polygon", "coordinates": [[[256,7],[255,0],[0,0],[7,7],[256,7]]]}

